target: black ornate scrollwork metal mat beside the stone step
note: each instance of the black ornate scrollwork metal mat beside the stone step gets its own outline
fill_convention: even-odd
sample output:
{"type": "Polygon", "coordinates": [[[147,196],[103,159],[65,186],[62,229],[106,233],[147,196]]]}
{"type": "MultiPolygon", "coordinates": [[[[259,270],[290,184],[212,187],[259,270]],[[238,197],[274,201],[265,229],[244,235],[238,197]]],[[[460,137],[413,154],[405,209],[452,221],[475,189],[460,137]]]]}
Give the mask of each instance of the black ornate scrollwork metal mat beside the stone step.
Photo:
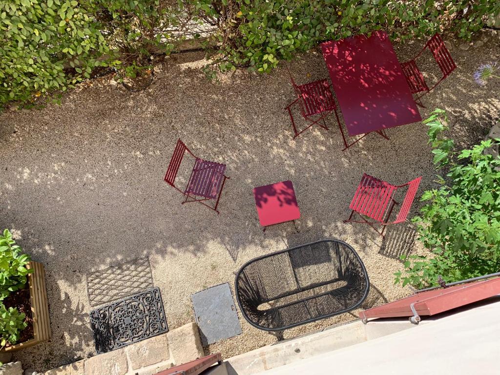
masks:
{"type": "Polygon", "coordinates": [[[95,350],[105,353],[168,331],[157,287],[90,312],[95,350]]]}

